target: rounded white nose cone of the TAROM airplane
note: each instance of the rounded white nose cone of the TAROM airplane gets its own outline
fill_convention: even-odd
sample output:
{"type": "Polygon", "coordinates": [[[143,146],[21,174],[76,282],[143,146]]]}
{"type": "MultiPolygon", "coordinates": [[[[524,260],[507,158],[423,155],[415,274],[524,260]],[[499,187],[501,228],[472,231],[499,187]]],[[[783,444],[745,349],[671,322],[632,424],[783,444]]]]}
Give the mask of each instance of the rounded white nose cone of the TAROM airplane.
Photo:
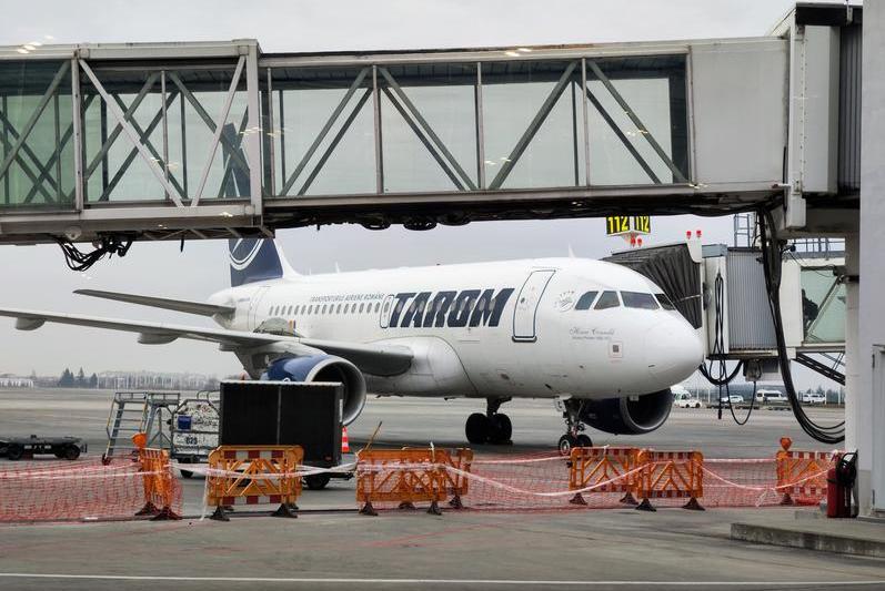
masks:
{"type": "Polygon", "coordinates": [[[662,387],[678,384],[703,361],[701,339],[682,318],[668,318],[645,334],[645,360],[648,371],[662,387]]]}

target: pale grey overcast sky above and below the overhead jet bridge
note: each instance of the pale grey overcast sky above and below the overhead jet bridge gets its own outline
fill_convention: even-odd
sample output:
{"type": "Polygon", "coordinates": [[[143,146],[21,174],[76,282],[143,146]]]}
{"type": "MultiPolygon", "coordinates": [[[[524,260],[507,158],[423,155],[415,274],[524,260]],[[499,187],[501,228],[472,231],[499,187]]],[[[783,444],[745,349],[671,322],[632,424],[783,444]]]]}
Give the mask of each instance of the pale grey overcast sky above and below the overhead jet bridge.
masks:
{"type": "MultiPolygon", "coordinates": [[[[29,41],[124,42],[255,38],[263,51],[341,51],[762,35],[790,8],[784,0],[415,0],[8,2],[0,44],[29,41]]],[[[651,241],[678,240],[701,228],[706,241],[731,242],[727,218],[655,217],[651,241]]],[[[604,256],[623,246],[605,238],[601,220],[486,222],[426,233],[359,226],[279,233],[293,266],[330,272],[565,255],[604,256]]],[[[133,317],[179,324],[205,319],[70,295],[78,287],[202,299],[228,285],[225,244],[137,243],[123,259],[87,274],[68,271],[56,246],[0,248],[0,303],[16,307],[133,317]]],[[[0,320],[0,373],[150,368],[231,374],[235,358],[212,345],[138,345],[134,335],[47,326],[12,330],[0,320]]]]}

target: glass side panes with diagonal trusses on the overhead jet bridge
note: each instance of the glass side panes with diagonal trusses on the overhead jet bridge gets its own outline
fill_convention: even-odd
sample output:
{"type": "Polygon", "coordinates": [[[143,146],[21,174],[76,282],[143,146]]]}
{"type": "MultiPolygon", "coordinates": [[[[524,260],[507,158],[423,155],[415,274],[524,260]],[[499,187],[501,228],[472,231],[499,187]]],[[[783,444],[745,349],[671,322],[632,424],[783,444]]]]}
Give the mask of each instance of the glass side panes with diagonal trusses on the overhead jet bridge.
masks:
{"type": "Polygon", "coordinates": [[[3,61],[0,207],[72,207],[78,165],[88,206],[248,198],[252,167],[266,197],[690,183],[684,54],[524,51],[3,61]]]}

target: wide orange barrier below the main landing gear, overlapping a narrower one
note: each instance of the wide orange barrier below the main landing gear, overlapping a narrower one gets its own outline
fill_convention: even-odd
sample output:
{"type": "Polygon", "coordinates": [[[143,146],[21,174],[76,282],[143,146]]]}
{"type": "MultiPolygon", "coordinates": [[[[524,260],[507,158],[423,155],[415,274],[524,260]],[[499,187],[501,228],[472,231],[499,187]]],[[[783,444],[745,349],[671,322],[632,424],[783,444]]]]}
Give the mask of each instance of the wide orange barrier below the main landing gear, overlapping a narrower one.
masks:
{"type": "MultiPolygon", "coordinates": [[[[430,501],[429,513],[441,514],[439,503],[446,499],[450,480],[445,468],[451,456],[434,449],[371,449],[360,452],[356,463],[356,502],[360,513],[375,516],[373,502],[395,502],[413,509],[415,502],[430,501]]],[[[457,486],[454,486],[457,488],[457,486]]],[[[463,485],[466,490],[466,482],[463,485]]]]}

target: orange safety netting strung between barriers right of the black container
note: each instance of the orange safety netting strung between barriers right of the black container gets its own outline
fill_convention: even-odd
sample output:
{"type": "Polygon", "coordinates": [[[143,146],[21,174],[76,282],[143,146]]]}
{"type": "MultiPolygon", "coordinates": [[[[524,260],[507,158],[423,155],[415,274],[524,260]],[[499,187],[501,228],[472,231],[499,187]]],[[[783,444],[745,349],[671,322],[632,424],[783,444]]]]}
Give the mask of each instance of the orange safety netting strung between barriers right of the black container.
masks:
{"type": "MultiPolygon", "coordinates": [[[[454,454],[454,452],[453,452],[454,454]]],[[[697,455],[700,457],[700,455],[697,455]]],[[[610,461],[601,458],[600,462],[610,461]]],[[[784,490],[819,490],[803,486],[808,482],[825,481],[825,468],[806,471],[802,478],[783,481],[778,475],[778,463],[772,459],[707,459],[703,458],[694,465],[684,465],[691,469],[696,482],[693,487],[701,492],[697,497],[705,508],[711,507],[763,507],[777,506],[782,502],[784,490]],[[781,480],[778,481],[778,476],[781,480]]],[[[403,470],[440,470],[446,478],[459,478],[467,483],[466,493],[461,495],[457,503],[467,509],[483,510],[524,510],[524,509],[575,509],[575,508],[623,508],[625,501],[632,500],[625,491],[635,491],[643,478],[648,475],[654,481],[662,481],[658,473],[667,475],[672,466],[667,461],[654,460],[652,465],[634,467],[624,463],[620,469],[594,470],[593,466],[583,466],[585,477],[575,479],[571,459],[555,454],[513,456],[479,456],[466,469],[459,469],[445,462],[435,465],[409,463],[408,460],[390,466],[358,465],[358,479],[361,473],[383,479],[385,472],[403,470]],[[589,476],[593,476],[589,478],[589,476]],[[600,476],[605,475],[605,476],[600,476]],[[576,502],[576,493],[583,502],[576,502]]],[[[683,470],[685,468],[682,468],[683,470]]],[[[670,478],[670,477],[667,477],[670,478]]],[[[678,487],[678,482],[673,488],[678,487]]],[[[642,492],[640,490],[640,492],[642,492]]],[[[682,507],[691,493],[660,493],[652,496],[656,507],[682,507]]],[[[794,496],[797,503],[813,505],[823,499],[824,492],[794,496]]],[[[642,495],[640,495],[640,499],[642,495]]],[[[440,506],[452,505],[453,496],[441,499],[440,506]]],[[[635,502],[635,501],[633,501],[635,502]]],[[[394,499],[372,500],[376,509],[398,507],[394,499]]]]}

